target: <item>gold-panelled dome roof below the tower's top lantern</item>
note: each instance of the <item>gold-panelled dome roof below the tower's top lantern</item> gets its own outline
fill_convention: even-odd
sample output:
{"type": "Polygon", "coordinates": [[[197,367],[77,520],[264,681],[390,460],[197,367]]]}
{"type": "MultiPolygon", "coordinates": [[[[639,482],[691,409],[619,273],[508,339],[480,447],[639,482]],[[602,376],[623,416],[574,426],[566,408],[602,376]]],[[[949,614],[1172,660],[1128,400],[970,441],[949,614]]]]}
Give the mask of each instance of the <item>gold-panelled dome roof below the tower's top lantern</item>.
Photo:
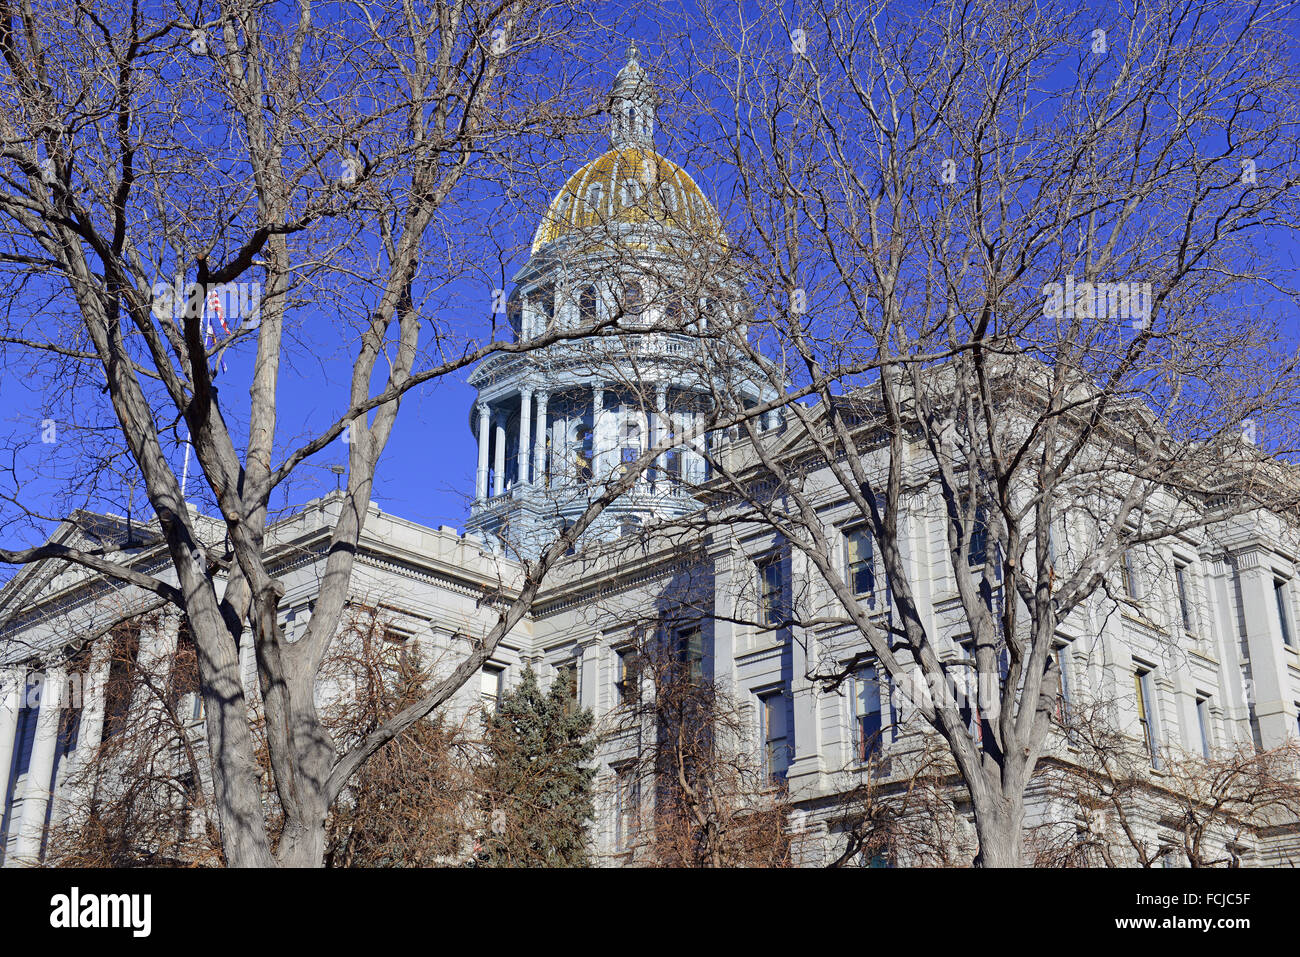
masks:
{"type": "Polygon", "coordinates": [[[533,237],[533,252],[610,224],[659,222],[725,243],[722,220],[681,166],[646,147],[610,150],[569,177],[533,237]]]}

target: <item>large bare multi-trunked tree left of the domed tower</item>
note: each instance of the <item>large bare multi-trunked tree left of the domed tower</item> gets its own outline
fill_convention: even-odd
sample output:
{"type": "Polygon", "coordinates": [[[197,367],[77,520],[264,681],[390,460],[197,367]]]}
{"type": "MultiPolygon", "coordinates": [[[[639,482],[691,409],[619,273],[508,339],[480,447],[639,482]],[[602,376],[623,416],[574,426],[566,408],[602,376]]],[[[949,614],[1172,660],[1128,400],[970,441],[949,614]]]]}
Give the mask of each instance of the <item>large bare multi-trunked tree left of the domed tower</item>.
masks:
{"type": "MultiPolygon", "coordinates": [[[[560,163],[555,134],[597,109],[571,56],[594,29],[581,3],[566,0],[368,4],[328,23],[307,3],[287,17],[247,1],[211,12],[75,0],[3,12],[0,341],[10,367],[30,368],[47,420],[75,423],[51,465],[55,490],[17,481],[9,508],[39,525],[72,515],[70,503],[121,497],[129,515],[157,518],[169,562],[153,572],[116,546],[56,544],[4,549],[0,560],[68,560],[183,610],[231,865],[320,865],[329,809],[358,770],[476,672],[547,568],[621,492],[602,488],[526,567],[458,668],[339,750],[315,685],[402,398],[493,351],[592,332],[528,343],[476,337],[439,296],[491,259],[495,224],[482,209],[493,196],[560,163]],[[231,289],[250,293],[235,296],[240,315],[231,289]],[[214,293],[222,321],[239,320],[220,339],[205,335],[203,319],[214,293]],[[321,316],[332,333],[313,341],[321,316]],[[311,434],[286,432],[281,373],[320,343],[350,356],[335,417],[311,434]],[[247,404],[217,385],[225,358],[243,350],[247,404]],[[182,426],[199,495],[182,489],[182,426]],[[346,507],[308,633],[289,644],[277,629],[282,585],[266,563],[268,515],[273,497],[339,441],[346,507]],[[224,546],[196,531],[187,499],[220,518],[224,546]],[[283,814],[274,848],[239,683],[242,633],[256,651],[283,814]]],[[[14,454],[26,445],[16,437],[14,454]]]]}

